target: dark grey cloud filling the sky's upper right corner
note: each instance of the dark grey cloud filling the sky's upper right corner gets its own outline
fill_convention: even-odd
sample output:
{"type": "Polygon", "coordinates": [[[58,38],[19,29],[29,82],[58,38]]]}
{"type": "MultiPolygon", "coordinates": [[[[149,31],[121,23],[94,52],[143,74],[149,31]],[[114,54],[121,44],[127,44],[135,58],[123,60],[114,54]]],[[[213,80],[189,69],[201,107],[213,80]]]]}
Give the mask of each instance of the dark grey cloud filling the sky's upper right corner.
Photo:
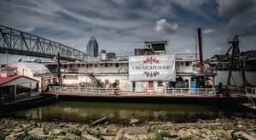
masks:
{"type": "Polygon", "coordinates": [[[230,17],[226,29],[230,34],[256,35],[256,1],[218,0],[218,14],[230,17]]]}

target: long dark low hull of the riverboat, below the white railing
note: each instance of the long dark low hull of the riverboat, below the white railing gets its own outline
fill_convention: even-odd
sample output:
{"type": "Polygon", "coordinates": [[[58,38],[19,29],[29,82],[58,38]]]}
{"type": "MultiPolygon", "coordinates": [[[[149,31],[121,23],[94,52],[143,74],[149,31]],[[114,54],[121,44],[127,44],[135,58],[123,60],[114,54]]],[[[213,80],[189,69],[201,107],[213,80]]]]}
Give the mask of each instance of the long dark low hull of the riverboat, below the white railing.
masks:
{"type": "Polygon", "coordinates": [[[160,103],[160,104],[238,104],[247,98],[217,95],[189,95],[163,93],[94,93],[94,92],[44,92],[45,96],[56,96],[64,101],[113,102],[113,103],[160,103]]]}

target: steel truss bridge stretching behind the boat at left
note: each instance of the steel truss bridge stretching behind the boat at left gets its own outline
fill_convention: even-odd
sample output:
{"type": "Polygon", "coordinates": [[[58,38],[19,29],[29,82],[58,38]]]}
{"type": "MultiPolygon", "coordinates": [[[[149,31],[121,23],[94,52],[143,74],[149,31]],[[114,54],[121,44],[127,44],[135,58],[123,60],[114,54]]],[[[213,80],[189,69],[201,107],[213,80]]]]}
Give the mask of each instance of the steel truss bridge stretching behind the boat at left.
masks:
{"type": "Polygon", "coordinates": [[[60,53],[60,59],[68,61],[90,59],[90,55],[40,36],[18,31],[0,25],[0,53],[19,54],[53,59],[60,53]]]}

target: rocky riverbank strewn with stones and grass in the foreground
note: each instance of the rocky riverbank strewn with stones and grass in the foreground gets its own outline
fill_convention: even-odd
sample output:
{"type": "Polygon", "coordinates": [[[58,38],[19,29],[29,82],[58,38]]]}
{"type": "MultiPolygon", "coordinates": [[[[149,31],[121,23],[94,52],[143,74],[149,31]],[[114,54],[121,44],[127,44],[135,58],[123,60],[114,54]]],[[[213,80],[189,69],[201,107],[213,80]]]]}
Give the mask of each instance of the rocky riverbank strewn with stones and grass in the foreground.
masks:
{"type": "Polygon", "coordinates": [[[108,118],[90,122],[1,118],[0,139],[255,139],[256,120],[240,117],[177,123],[108,118]]]}

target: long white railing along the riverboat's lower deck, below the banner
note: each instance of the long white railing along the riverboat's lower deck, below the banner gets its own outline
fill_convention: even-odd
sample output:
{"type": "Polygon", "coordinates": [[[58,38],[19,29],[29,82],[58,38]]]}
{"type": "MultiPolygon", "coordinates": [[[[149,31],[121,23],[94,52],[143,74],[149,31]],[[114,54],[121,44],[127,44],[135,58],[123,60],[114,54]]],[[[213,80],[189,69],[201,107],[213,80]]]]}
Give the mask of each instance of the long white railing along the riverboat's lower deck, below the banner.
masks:
{"type": "Polygon", "coordinates": [[[122,90],[106,87],[49,87],[49,92],[81,94],[162,94],[162,95],[215,95],[215,88],[151,88],[122,90]]]}

